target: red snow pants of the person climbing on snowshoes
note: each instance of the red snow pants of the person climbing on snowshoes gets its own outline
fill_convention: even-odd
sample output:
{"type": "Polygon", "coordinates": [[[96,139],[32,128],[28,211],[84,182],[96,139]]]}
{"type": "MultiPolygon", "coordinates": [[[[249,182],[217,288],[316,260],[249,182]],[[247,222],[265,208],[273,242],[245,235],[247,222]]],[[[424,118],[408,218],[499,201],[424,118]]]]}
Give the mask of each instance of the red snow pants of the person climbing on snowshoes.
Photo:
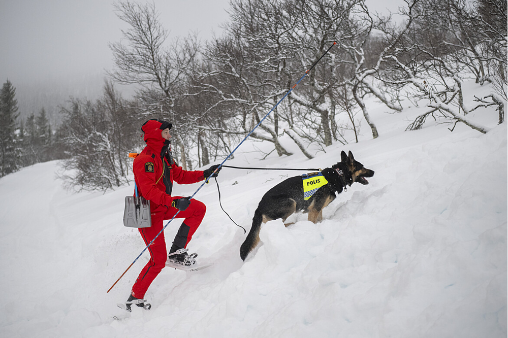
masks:
{"type": "MultiPolygon", "coordinates": [[[[180,197],[177,197],[180,198],[180,197]]],[[[139,228],[139,232],[145,244],[148,245],[153,238],[164,227],[164,220],[169,220],[178,212],[178,209],[169,208],[165,213],[152,213],[152,226],[149,228],[139,228]]],[[[205,217],[206,207],[203,202],[192,199],[190,205],[184,211],[180,211],[175,218],[185,218],[178,233],[175,237],[175,244],[181,248],[185,248],[192,239],[193,234],[201,224],[203,217],[205,217]]],[[[144,298],[145,292],[152,281],[161,272],[163,267],[166,266],[168,259],[168,250],[166,248],[166,241],[164,240],[164,231],[153,241],[152,245],[148,247],[150,253],[150,260],[146,263],[145,267],[141,270],[138,279],[132,287],[132,294],[136,298],[144,298]]]]}

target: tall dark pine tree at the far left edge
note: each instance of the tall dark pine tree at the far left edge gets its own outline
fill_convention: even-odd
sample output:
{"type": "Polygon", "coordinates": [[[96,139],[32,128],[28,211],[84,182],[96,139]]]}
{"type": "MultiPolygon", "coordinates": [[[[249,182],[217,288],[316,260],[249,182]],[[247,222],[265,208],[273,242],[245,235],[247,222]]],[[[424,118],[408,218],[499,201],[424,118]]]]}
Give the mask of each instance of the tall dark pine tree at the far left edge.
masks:
{"type": "Polygon", "coordinates": [[[15,96],[16,88],[7,80],[0,90],[0,177],[19,168],[15,140],[18,102],[15,96]]]}

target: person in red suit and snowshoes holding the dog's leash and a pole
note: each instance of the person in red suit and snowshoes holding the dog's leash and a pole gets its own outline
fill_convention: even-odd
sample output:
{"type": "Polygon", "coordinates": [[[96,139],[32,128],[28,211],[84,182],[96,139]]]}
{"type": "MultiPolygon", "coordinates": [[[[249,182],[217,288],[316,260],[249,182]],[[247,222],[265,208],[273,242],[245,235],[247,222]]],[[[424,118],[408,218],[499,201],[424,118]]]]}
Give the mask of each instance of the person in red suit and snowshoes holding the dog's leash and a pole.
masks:
{"type": "MultiPolygon", "coordinates": [[[[173,182],[192,184],[210,176],[216,177],[220,171],[220,168],[217,170],[218,164],[205,171],[185,171],[178,166],[171,154],[171,127],[171,123],[157,119],[148,120],[141,127],[146,147],[134,159],[133,171],[138,194],[150,201],[151,227],[139,228],[139,232],[148,245],[163,229],[164,220],[173,218],[178,211],[176,218],[184,220],[173,240],[169,258],[164,232],[148,247],[150,260],[136,279],[128,302],[144,298],[152,281],[166,266],[166,261],[182,267],[192,267],[196,264],[197,254],[188,255],[187,252],[177,254],[176,251],[187,247],[205,216],[206,207],[197,199],[173,196],[173,182]]],[[[144,307],[143,303],[137,305],[144,307]]]]}

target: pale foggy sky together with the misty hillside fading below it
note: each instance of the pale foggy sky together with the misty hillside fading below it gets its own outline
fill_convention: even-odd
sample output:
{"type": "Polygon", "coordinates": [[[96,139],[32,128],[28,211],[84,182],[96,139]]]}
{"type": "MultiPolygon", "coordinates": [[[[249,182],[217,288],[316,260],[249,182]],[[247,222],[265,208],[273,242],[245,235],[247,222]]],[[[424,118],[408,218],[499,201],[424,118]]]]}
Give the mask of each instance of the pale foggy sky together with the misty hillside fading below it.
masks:
{"type": "MultiPolygon", "coordinates": [[[[197,32],[204,42],[222,34],[229,0],[133,0],[154,3],[168,40],[197,32]]],[[[366,0],[371,11],[392,12],[403,0],[366,0]]],[[[128,26],[116,17],[113,0],[0,0],[0,85],[16,88],[20,118],[44,108],[51,123],[69,97],[102,95],[112,71],[109,43],[128,26]]],[[[129,96],[132,87],[120,87],[129,96]]]]}

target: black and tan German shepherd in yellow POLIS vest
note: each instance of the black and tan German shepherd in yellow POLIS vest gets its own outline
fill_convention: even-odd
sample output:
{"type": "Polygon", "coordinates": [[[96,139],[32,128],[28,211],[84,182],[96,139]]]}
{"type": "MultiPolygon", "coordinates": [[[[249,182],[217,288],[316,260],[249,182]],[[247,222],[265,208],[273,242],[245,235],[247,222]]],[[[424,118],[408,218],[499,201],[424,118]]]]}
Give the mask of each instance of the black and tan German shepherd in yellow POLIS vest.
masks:
{"type": "MultiPolygon", "coordinates": [[[[316,223],[323,220],[323,208],[335,199],[335,192],[341,193],[343,189],[347,190],[346,186],[351,186],[354,182],[369,184],[365,178],[374,176],[374,171],[356,161],[351,151],[348,156],[342,151],[340,159],[341,161],[332,165],[331,168],[326,168],[321,173],[308,175],[310,181],[305,180],[307,184],[317,183],[321,177],[327,181],[327,184],[317,189],[310,198],[304,197],[304,177],[302,176],[290,177],[265,193],[259,202],[258,209],[254,212],[252,227],[247,238],[240,247],[240,257],[243,260],[260,241],[261,223],[278,218],[282,218],[284,222],[296,211],[308,213],[308,220],[316,223]]],[[[286,224],[288,225],[290,224],[286,224]]]]}

